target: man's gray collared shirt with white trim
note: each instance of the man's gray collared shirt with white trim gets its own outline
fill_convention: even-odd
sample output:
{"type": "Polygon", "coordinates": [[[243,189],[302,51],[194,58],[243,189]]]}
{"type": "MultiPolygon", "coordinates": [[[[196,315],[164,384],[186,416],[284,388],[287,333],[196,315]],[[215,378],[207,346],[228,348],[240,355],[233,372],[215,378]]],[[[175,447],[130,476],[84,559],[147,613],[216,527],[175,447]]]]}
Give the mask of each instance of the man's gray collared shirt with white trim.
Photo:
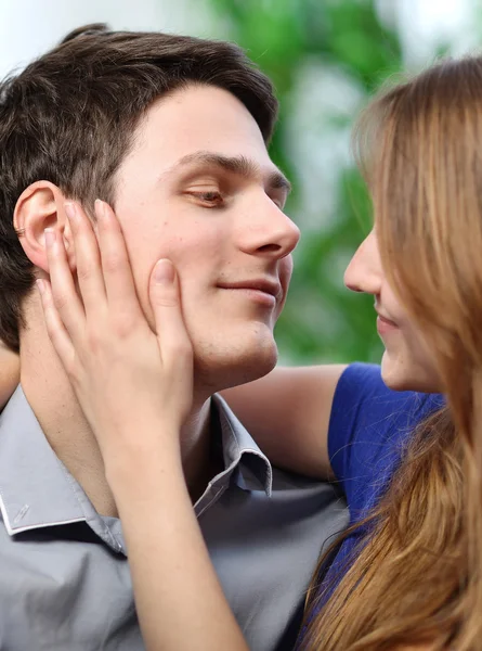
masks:
{"type": "MultiPolygon", "coordinates": [[[[224,470],[195,511],[249,648],[288,650],[347,511],[330,485],[272,468],[225,403],[213,405],[224,470]]],[[[0,414],[0,509],[2,651],[144,649],[120,521],[95,511],[21,387],[0,414]]]]}

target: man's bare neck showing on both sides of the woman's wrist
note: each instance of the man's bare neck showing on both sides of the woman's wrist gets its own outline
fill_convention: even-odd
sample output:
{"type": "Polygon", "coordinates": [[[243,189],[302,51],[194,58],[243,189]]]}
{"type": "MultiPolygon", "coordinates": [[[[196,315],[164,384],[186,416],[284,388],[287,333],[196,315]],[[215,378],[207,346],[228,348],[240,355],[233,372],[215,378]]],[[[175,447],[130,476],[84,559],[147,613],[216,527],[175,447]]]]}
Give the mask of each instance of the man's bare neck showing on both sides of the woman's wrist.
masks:
{"type": "MultiPolygon", "coordinates": [[[[52,449],[82,486],[96,511],[117,515],[105,478],[104,462],[73,387],[49,341],[36,345],[25,337],[21,353],[21,383],[52,449]]],[[[210,455],[210,399],[193,409],[181,435],[184,475],[193,501],[200,497],[214,472],[210,455]]]]}

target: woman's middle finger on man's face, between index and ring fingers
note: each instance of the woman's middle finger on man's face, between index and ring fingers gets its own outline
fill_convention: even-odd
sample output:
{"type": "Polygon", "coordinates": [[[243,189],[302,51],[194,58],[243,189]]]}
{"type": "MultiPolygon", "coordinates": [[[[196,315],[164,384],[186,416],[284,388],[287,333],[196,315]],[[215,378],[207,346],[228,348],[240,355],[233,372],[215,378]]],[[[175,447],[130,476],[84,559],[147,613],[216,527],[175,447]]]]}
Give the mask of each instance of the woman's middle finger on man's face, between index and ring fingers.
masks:
{"type": "Polygon", "coordinates": [[[101,255],[92,224],[83,208],[74,202],[65,204],[74,239],[77,280],[86,314],[102,315],[106,295],[101,267],[101,255]]]}

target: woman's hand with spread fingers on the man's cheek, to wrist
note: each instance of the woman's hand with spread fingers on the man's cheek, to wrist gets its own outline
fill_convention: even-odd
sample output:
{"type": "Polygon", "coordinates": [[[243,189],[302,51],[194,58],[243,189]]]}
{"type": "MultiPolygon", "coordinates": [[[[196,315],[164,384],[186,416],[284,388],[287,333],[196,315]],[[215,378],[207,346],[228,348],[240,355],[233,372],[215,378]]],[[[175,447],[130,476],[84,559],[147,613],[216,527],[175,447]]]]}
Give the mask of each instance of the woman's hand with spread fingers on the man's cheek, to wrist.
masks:
{"type": "Polygon", "coordinates": [[[122,452],[152,445],[139,434],[152,431],[146,425],[153,422],[159,435],[174,433],[172,443],[179,445],[192,405],[192,346],[172,264],[159,260],[149,279],[154,333],[112,208],[95,202],[97,238],[80,205],[66,204],[66,213],[79,292],[63,239],[53,229],[45,231],[50,282],[38,285],[48,333],[108,468],[122,452]]]}

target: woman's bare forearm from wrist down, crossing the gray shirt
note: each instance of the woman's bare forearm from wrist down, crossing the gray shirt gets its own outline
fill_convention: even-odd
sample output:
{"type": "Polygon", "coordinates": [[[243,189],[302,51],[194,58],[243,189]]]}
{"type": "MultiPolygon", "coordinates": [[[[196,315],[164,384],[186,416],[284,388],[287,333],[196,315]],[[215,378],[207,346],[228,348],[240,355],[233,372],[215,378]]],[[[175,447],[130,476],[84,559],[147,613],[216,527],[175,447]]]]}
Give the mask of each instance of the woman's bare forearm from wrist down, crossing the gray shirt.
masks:
{"type": "Polygon", "coordinates": [[[107,478],[147,651],[248,651],[195,519],[179,450],[123,458],[107,478]]]}

